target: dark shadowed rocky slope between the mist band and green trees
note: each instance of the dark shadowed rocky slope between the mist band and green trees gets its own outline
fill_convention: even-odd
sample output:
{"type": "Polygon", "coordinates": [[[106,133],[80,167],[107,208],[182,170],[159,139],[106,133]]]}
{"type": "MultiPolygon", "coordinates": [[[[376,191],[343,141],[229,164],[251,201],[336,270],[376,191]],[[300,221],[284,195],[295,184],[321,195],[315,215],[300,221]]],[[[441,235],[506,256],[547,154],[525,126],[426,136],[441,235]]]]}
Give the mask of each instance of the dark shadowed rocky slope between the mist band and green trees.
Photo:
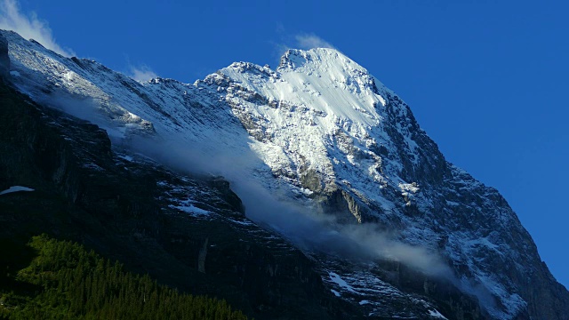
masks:
{"type": "Polygon", "coordinates": [[[28,259],[25,244],[47,233],[182,292],[228,300],[251,318],[358,318],[332,302],[302,252],[244,217],[227,181],[113,151],[96,125],[1,81],[0,105],[0,191],[33,190],[0,194],[0,244],[12,249],[0,259],[0,295],[9,292],[6,273],[29,263],[15,268],[14,256],[28,259]]]}

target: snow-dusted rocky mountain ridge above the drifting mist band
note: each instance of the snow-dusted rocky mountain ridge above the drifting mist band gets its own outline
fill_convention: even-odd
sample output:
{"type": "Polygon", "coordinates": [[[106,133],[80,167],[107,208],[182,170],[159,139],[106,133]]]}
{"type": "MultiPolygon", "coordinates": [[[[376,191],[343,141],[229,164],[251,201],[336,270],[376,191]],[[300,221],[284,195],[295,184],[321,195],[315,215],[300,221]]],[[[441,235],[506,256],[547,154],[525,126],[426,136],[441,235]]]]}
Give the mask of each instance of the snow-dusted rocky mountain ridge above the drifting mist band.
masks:
{"type": "MultiPolygon", "coordinates": [[[[195,84],[161,78],[138,84],[92,61],[66,59],[14,34],[3,35],[11,79],[21,92],[100,125],[114,145],[133,146],[133,140],[150,136],[165,138],[170,146],[197,146],[207,160],[220,150],[229,161],[249,155],[240,172],[251,173],[252,181],[273,196],[333,212],[324,214],[325,220],[333,219],[344,238],[383,241],[395,252],[367,248],[378,257],[413,266],[415,260],[396,248],[418,247],[413,254],[421,258],[440,252],[453,270],[454,285],[482,300],[491,317],[524,318],[527,312],[564,318],[548,314],[549,307],[533,297],[537,290],[549,297],[550,306],[564,305],[553,293],[563,291],[544,284],[554,279],[505,199],[446,162],[405,102],[343,54],[292,50],[276,70],[236,62],[195,84]],[[330,67],[326,58],[334,54],[344,61],[330,67]],[[81,108],[72,105],[77,100],[81,108]],[[342,227],[362,222],[392,235],[368,238],[342,227]],[[531,267],[514,262],[523,260],[532,261],[531,267]],[[493,268],[509,275],[495,275],[493,268]],[[475,292],[477,287],[484,290],[475,292]]],[[[232,177],[216,166],[206,168],[229,180],[243,179],[243,173],[232,177]]],[[[245,196],[245,207],[254,201],[247,204],[245,196]]],[[[278,224],[263,212],[249,214],[257,222],[278,224]]],[[[276,226],[284,234],[291,231],[285,228],[276,226]]],[[[337,292],[349,292],[346,288],[337,292]]]]}

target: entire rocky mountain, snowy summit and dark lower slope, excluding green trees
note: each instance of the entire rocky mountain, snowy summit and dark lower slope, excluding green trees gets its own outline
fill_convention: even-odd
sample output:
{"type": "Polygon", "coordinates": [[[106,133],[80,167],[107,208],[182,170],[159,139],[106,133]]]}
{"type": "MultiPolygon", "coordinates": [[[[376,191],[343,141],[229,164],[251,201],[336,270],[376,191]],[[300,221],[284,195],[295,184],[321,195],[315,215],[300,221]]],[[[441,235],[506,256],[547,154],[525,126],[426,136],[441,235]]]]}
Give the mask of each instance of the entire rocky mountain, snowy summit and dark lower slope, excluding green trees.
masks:
{"type": "Polygon", "coordinates": [[[55,131],[54,146],[69,147],[48,152],[52,163],[73,156],[63,163],[78,173],[65,180],[67,169],[38,163],[37,146],[12,144],[5,155],[20,156],[3,156],[0,189],[45,184],[18,169],[18,159],[36,159],[29,167],[47,170],[40,176],[77,210],[114,226],[81,222],[98,230],[84,242],[148,262],[138,268],[164,283],[205,274],[202,289],[180,288],[220,295],[256,318],[569,319],[569,292],[507,201],[448,163],[405,102],[341,52],[289,50],[276,69],[236,62],[194,84],[140,84],[1,35],[4,81],[51,115],[29,130],[55,131]],[[100,194],[109,180],[145,213],[101,216],[115,196],[100,194]],[[140,181],[145,196],[132,187],[140,181]],[[119,238],[130,239],[123,253],[111,249],[119,238]]]}

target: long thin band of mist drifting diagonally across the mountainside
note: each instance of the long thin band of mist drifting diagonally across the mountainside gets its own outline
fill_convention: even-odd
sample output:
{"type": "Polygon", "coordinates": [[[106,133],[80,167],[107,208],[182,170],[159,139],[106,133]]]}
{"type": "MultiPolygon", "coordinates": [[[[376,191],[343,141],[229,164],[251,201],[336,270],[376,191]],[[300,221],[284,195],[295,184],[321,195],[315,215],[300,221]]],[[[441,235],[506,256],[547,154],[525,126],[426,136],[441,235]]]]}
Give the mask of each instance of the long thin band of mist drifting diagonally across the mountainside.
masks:
{"type": "Polygon", "coordinates": [[[203,136],[193,141],[176,134],[169,135],[168,140],[139,135],[125,138],[124,132],[101,113],[97,101],[53,94],[45,102],[98,124],[107,130],[115,146],[130,148],[176,171],[222,176],[241,198],[249,219],[276,231],[304,251],[324,252],[352,261],[394,260],[428,276],[453,275],[438,252],[398,241],[395,235],[371,223],[341,223],[333,212],[322,212],[311,200],[295,196],[286,185],[273,183],[270,168],[252,151],[252,140],[246,134],[231,137],[232,140],[214,131],[200,132],[203,136]]]}

